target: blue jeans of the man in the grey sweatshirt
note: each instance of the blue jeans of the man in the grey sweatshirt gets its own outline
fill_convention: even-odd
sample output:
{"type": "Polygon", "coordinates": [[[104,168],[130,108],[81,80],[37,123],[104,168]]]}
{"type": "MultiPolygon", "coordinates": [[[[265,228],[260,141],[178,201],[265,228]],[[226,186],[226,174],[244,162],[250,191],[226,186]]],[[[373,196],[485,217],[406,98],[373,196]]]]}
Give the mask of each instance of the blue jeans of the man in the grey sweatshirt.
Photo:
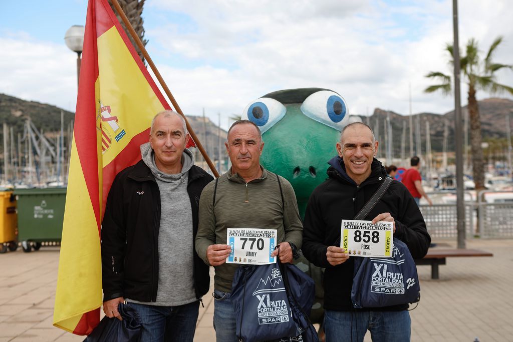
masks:
{"type": "Polygon", "coordinates": [[[165,336],[166,341],[192,342],[196,321],[198,321],[199,300],[175,307],[136,303],[125,305],[133,308],[141,318],[143,326],[141,341],[161,342],[164,341],[165,336]]]}

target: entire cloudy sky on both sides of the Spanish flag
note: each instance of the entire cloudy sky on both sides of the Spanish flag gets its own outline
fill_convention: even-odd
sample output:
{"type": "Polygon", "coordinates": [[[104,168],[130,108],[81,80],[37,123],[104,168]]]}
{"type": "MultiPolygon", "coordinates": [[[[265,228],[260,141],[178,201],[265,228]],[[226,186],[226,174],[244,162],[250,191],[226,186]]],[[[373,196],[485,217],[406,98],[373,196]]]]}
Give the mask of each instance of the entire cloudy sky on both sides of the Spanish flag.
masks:
{"type": "MultiPolygon", "coordinates": [[[[0,0],[0,92],[74,111],[76,54],[64,33],[84,25],[86,8],[0,0]]],[[[513,2],[460,0],[459,11],[461,46],[475,37],[484,54],[503,35],[495,60],[513,64],[513,2]]],[[[288,88],[332,89],[351,114],[407,114],[411,84],[413,113],[453,108],[451,97],[423,93],[427,72],[451,72],[449,0],[146,0],[143,18],[146,47],[184,112],[205,108],[214,122],[221,113],[224,127],[251,100],[288,88]]],[[[513,85],[513,71],[498,76],[513,85]]]]}

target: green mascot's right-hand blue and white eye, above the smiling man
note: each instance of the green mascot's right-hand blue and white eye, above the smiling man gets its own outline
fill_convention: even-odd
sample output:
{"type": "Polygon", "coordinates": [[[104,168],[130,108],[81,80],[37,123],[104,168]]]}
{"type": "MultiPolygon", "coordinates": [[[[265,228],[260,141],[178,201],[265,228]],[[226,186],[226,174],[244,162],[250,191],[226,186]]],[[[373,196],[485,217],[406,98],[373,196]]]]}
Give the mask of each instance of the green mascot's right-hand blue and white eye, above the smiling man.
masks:
{"type": "Polygon", "coordinates": [[[308,96],[301,105],[308,117],[338,131],[347,124],[349,110],[345,100],[336,92],[321,90],[308,96]]]}

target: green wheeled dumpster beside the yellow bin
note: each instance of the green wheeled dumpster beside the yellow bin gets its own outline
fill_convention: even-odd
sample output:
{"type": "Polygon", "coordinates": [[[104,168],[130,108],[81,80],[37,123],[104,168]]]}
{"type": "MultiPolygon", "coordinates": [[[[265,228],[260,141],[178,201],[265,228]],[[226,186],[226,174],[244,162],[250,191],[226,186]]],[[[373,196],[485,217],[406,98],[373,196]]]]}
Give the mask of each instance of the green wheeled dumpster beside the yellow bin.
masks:
{"type": "Polygon", "coordinates": [[[18,205],[18,240],[24,252],[42,243],[61,242],[66,188],[15,189],[18,205]]]}

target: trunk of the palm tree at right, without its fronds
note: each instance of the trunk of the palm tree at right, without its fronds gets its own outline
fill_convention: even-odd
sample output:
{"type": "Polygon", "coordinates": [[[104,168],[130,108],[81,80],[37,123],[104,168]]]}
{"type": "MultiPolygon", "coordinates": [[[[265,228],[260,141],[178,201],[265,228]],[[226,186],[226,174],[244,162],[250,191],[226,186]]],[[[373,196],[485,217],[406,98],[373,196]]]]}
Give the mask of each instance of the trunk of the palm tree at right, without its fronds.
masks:
{"type": "Polygon", "coordinates": [[[470,119],[470,151],[472,153],[472,176],[476,184],[476,190],[484,187],[483,150],[481,149],[481,117],[476,100],[476,89],[469,86],[468,89],[468,114],[470,119]]]}

